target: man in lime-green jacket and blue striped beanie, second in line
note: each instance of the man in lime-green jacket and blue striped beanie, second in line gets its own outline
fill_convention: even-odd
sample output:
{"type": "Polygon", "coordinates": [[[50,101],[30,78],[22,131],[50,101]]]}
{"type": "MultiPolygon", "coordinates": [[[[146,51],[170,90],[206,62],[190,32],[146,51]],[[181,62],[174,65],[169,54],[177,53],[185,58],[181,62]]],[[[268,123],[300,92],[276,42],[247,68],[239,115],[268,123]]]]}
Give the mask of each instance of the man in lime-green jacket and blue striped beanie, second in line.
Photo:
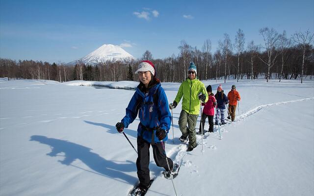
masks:
{"type": "Polygon", "coordinates": [[[188,78],[186,78],[178,91],[177,97],[173,103],[169,104],[170,109],[176,108],[182,99],[182,111],[179,117],[179,127],[182,136],[179,138],[181,142],[187,142],[187,151],[192,151],[197,146],[195,126],[200,112],[201,101],[207,102],[208,93],[205,85],[196,76],[196,66],[193,62],[188,67],[188,78]],[[188,126],[186,126],[188,125],[188,126]]]}

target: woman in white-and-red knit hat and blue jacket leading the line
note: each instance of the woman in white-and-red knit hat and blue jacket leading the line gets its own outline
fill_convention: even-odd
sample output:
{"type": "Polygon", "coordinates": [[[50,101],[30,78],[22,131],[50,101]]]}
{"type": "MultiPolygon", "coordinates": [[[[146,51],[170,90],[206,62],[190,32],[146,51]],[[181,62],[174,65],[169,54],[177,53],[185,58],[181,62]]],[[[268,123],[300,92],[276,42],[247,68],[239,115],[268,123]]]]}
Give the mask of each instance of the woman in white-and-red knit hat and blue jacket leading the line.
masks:
{"type": "MultiPolygon", "coordinates": [[[[120,123],[116,124],[116,128],[119,132],[123,132],[124,127],[128,128],[138,114],[140,123],[137,127],[138,157],[136,167],[140,182],[139,188],[142,194],[145,194],[150,186],[150,146],[153,147],[156,165],[169,171],[162,145],[168,139],[171,114],[166,94],[159,79],[156,78],[154,64],[150,61],[142,61],[135,73],[138,73],[140,84],[126,109],[126,116],[120,123]]],[[[172,170],[173,161],[170,158],[167,159],[170,170],[172,170]]]]}

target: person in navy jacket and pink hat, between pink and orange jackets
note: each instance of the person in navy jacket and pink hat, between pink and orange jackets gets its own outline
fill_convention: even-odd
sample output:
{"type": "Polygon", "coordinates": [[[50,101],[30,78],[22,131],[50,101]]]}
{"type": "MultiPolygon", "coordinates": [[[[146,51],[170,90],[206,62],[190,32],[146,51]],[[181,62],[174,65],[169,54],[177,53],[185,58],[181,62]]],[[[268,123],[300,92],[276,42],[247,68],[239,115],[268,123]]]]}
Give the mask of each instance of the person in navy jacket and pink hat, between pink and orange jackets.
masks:
{"type": "Polygon", "coordinates": [[[228,104],[228,98],[224,94],[224,91],[222,90],[221,85],[219,85],[217,88],[217,93],[215,95],[215,98],[217,101],[215,125],[218,125],[218,116],[220,116],[221,124],[226,124],[225,123],[225,110],[226,110],[226,104],[228,104]]]}

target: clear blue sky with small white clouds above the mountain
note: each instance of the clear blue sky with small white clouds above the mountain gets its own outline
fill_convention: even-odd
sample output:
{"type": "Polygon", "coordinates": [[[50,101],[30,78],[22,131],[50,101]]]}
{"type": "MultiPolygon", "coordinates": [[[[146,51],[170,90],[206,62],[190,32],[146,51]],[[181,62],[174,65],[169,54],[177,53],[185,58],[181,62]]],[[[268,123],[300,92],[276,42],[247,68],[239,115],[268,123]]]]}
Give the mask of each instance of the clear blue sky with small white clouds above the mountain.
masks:
{"type": "Polygon", "coordinates": [[[314,0],[0,0],[0,57],[70,62],[104,44],[136,58],[178,55],[180,42],[212,52],[241,28],[247,43],[259,29],[314,32],[314,0]]]}

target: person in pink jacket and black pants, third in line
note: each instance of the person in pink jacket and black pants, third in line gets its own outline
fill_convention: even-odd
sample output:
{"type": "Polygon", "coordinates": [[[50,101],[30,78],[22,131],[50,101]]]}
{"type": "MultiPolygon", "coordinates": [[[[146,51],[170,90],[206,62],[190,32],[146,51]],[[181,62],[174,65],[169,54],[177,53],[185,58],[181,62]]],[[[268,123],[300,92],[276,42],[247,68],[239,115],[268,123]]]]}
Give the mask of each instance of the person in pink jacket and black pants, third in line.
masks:
{"type": "Polygon", "coordinates": [[[202,105],[204,105],[204,109],[203,109],[203,113],[202,113],[202,127],[200,124],[200,130],[199,132],[197,132],[197,134],[202,134],[202,128],[203,128],[203,134],[206,133],[207,131],[204,129],[204,125],[206,122],[206,118],[208,118],[208,122],[209,122],[209,132],[213,132],[214,131],[214,123],[213,123],[213,118],[214,118],[214,108],[217,105],[217,101],[216,98],[214,96],[214,94],[211,92],[211,86],[209,85],[207,88],[207,93],[208,93],[208,101],[206,103],[202,103],[202,105]]]}

